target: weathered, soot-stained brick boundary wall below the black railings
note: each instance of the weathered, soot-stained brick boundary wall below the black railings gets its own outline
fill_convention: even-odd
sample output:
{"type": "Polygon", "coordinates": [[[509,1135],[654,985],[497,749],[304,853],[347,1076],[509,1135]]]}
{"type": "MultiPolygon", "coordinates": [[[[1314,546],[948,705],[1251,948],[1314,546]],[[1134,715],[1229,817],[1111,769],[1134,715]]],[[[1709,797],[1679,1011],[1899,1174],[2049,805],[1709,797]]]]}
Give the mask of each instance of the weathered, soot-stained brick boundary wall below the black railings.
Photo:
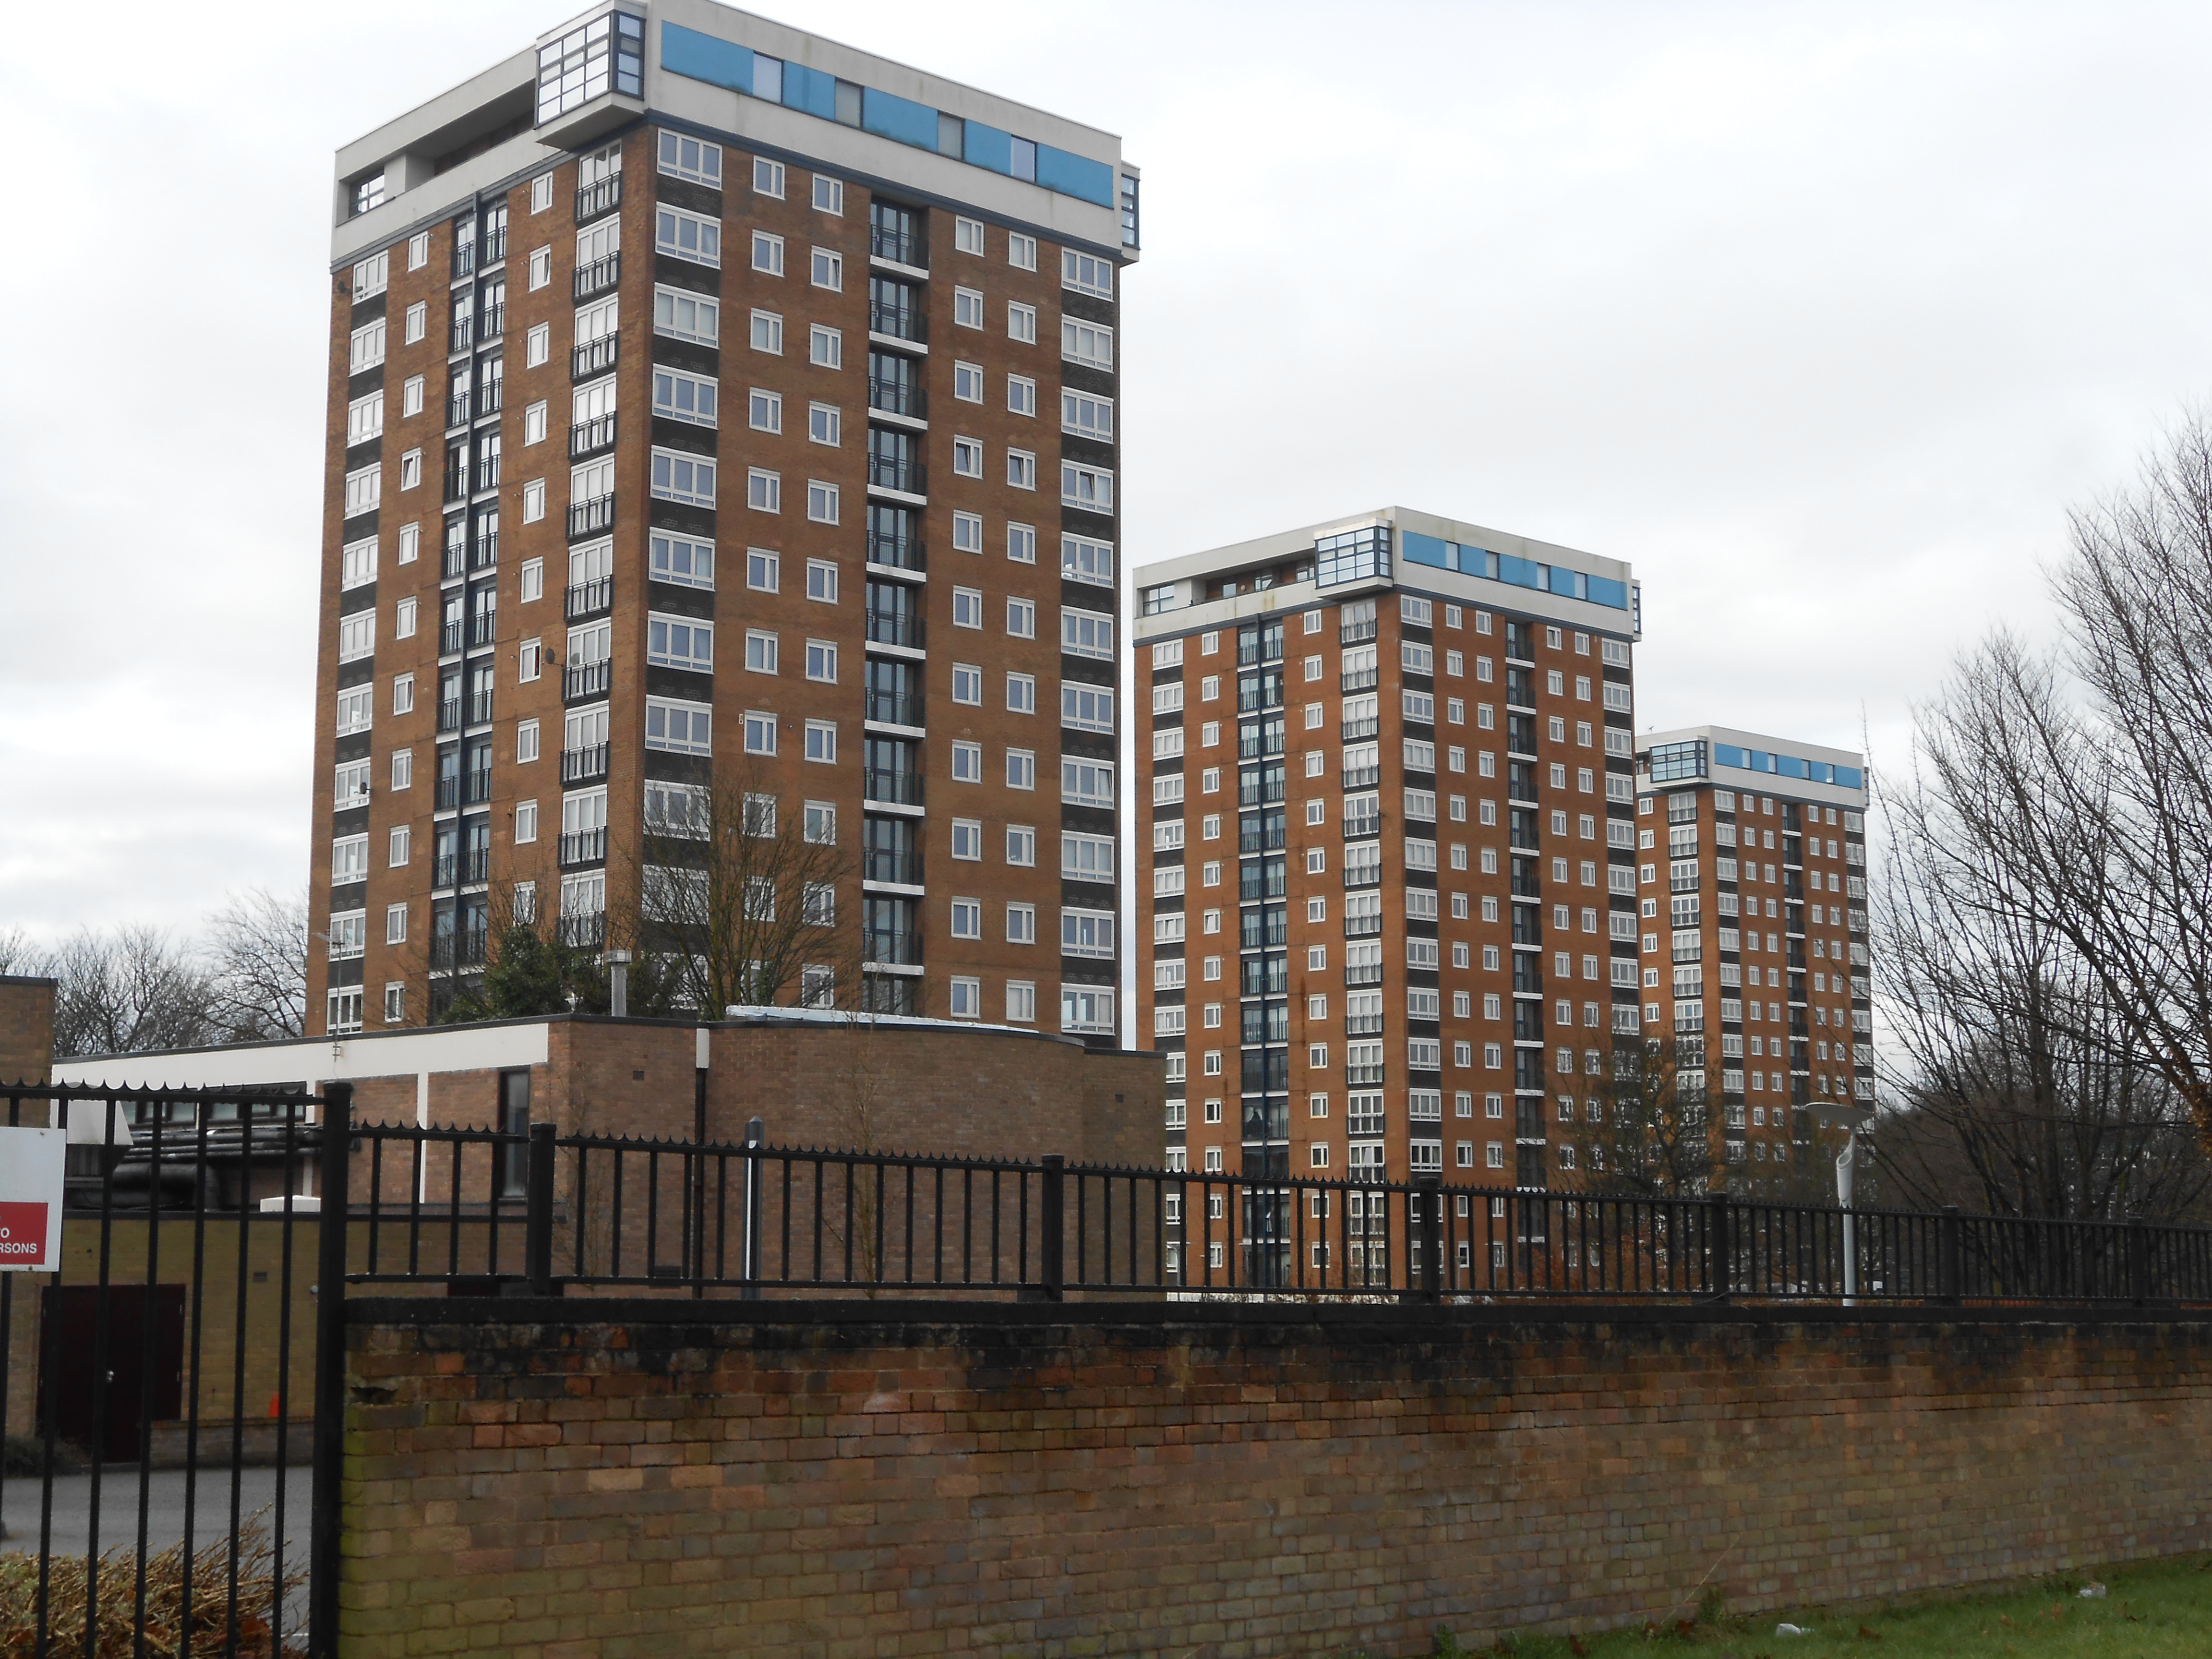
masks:
{"type": "Polygon", "coordinates": [[[2205,1548],[2212,1321],[349,1305],[345,1655],[1429,1652],[2205,1548]]]}

